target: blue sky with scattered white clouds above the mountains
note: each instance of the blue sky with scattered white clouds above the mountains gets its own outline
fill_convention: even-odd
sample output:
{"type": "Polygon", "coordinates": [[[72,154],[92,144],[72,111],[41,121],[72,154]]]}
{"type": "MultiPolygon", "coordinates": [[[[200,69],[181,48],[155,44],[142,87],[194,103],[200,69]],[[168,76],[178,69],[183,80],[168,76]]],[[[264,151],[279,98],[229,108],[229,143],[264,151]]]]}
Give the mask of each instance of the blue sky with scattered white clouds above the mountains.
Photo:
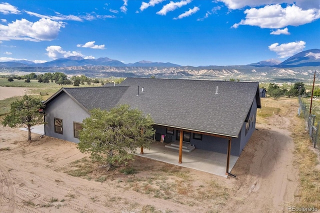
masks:
{"type": "Polygon", "coordinates": [[[243,65],[320,48],[320,0],[4,0],[0,61],[243,65]]]}

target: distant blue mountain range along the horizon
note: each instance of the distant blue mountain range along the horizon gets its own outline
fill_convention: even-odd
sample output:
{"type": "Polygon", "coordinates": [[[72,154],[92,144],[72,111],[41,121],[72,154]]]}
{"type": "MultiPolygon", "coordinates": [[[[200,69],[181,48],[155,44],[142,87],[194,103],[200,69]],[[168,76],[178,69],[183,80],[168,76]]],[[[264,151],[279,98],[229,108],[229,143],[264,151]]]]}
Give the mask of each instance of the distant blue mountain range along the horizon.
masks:
{"type": "MultiPolygon", "coordinates": [[[[268,59],[256,63],[247,64],[249,66],[271,66],[271,67],[300,67],[300,66],[320,66],[320,49],[309,49],[301,51],[283,62],[277,59],[268,59]]],[[[69,66],[113,66],[113,67],[181,67],[181,65],[170,62],[152,62],[141,60],[135,63],[123,63],[119,60],[108,57],[97,59],[84,59],[81,56],[69,56],[58,58],[44,63],[34,63],[28,60],[11,60],[0,62],[0,67],[69,67],[69,66]]],[[[188,66],[186,66],[188,67],[188,66]]],[[[198,66],[201,68],[212,67],[198,66]]]]}

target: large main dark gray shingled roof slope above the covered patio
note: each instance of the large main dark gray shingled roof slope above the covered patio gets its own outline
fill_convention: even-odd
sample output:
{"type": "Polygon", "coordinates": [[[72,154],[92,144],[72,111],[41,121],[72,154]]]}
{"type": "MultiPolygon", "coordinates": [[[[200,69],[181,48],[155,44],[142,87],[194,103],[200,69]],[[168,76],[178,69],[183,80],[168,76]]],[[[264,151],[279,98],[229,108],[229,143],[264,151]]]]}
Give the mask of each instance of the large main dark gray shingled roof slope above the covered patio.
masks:
{"type": "Polygon", "coordinates": [[[126,78],[121,85],[129,88],[118,103],[149,113],[156,124],[214,134],[237,137],[254,97],[260,107],[257,82],[126,78]]]}

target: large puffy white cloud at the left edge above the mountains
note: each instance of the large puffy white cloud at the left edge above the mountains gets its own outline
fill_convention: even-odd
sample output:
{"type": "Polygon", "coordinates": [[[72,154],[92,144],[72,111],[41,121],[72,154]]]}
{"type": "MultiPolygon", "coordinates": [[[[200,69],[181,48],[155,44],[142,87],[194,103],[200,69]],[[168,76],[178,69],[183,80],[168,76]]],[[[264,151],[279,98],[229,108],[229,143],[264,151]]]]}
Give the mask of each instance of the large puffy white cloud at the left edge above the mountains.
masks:
{"type": "Polygon", "coordinates": [[[48,18],[41,18],[36,22],[30,22],[24,18],[15,20],[8,25],[0,24],[1,40],[53,40],[57,37],[60,28],[64,27],[62,21],[52,21],[48,18]]]}

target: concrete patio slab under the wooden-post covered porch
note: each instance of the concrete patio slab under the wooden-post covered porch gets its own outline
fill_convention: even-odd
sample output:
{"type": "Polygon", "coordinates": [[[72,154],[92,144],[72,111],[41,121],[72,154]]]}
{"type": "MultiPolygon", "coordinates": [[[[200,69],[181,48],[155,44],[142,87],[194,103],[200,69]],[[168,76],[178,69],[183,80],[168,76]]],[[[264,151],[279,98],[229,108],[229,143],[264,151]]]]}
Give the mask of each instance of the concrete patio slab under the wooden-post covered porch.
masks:
{"type": "MultiPolygon", "coordinates": [[[[182,152],[182,163],[178,163],[179,151],[164,147],[165,144],[153,142],[150,149],[143,149],[143,154],[140,154],[140,148],[138,148],[136,155],[227,177],[225,175],[226,154],[194,149],[192,152],[182,152]]],[[[237,156],[230,155],[229,171],[231,171],[237,159],[237,156]]]]}

